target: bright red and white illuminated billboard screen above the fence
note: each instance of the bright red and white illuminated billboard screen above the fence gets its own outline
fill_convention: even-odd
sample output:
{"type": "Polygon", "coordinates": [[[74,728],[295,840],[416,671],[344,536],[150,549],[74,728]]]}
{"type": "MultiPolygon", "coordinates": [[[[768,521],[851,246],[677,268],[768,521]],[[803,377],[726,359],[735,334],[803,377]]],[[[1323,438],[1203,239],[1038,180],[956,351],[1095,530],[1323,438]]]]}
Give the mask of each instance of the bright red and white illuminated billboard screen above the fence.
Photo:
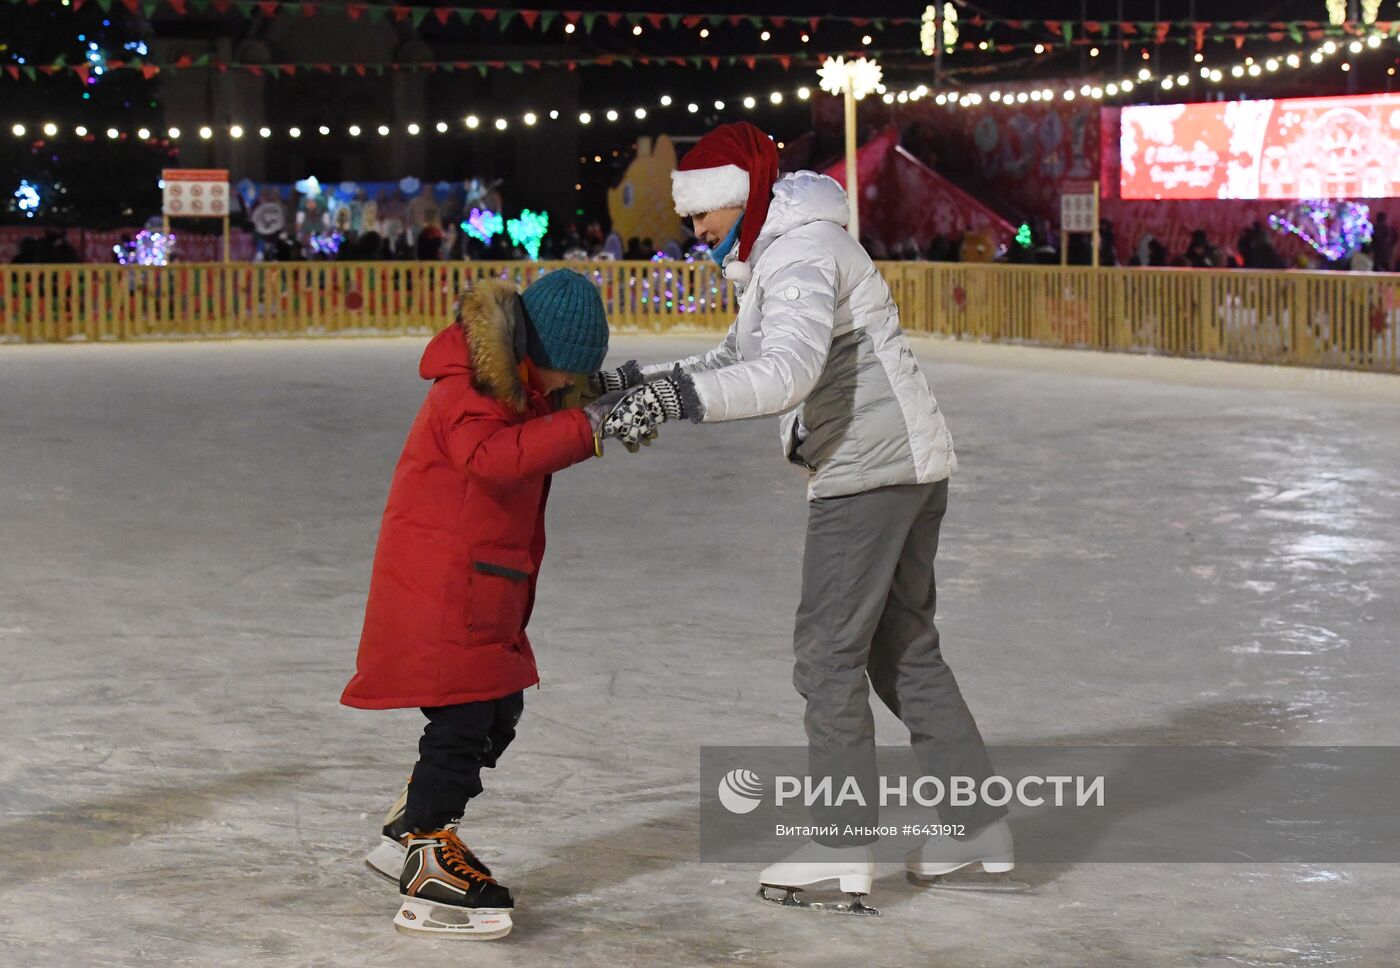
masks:
{"type": "Polygon", "coordinates": [[[1400,195],[1400,94],[1133,105],[1124,199],[1400,195]]]}

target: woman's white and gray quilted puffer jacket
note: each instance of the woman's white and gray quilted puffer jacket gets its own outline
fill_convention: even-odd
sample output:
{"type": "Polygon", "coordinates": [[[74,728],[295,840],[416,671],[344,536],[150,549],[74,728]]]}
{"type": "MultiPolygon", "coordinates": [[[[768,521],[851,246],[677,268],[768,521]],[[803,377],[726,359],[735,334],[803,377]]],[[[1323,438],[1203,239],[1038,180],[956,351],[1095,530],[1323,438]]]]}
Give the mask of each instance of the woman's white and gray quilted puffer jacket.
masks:
{"type": "Polygon", "coordinates": [[[958,466],[889,287],[846,220],[836,181],[778,179],[728,336],[679,361],[706,423],[785,415],[783,450],[811,473],[812,499],[942,480],[958,466]]]}

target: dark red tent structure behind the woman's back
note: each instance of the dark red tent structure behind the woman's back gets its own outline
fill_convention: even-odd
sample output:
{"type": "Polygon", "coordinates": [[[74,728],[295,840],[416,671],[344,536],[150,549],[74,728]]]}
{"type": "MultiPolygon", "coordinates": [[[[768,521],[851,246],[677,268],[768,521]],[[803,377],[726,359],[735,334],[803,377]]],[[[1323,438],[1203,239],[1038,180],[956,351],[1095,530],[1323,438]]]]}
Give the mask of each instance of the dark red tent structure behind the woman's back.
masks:
{"type": "MultiPolygon", "coordinates": [[[[861,235],[892,255],[911,240],[923,252],[937,235],[987,231],[1009,245],[1015,227],[899,146],[890,126],[857,151],[861,235]]],[[[846,185],[846,160],[826,170],[846,185]]]]}

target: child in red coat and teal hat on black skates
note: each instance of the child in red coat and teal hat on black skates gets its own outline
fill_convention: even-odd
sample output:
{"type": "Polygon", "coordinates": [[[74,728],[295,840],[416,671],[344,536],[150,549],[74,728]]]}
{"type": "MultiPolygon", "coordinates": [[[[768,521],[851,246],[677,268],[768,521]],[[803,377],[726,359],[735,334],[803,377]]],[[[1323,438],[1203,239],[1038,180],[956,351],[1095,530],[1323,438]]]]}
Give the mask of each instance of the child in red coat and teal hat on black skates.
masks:
{"type": "Polygon", "coordinates": [[[511,892],[455,824],[539,681],[525,625],[550,475],[602,454],[612,403],[559,409],[559,399],[606,353],[598,290],[560,269],[524,294],[497,282],[463,293],[455,324],[419,364],[433,387],[393,472],[356,674],[340,698],[417,706],[428,720],[413,777],[367,859],[399,881],[399,930],[490,939],[511,929],[511,892]]]}

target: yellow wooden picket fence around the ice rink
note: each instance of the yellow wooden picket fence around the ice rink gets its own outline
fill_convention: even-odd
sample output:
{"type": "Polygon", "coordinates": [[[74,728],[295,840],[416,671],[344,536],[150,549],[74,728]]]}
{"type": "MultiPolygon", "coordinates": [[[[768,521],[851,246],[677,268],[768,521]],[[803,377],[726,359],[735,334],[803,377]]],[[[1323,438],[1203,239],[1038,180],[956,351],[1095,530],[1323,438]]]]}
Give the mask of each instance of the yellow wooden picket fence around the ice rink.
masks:
{"type": "MultiPolygon", "coordinates": [[[[706,262],[286,262],[0,266],[0,342],[431,332],[468,282],[568,266],[609,321],[722,331],[734,293],[706,262]]],[[[1400,275],[881,263],[909,332],[1400,373],[1400,275]]]]}

